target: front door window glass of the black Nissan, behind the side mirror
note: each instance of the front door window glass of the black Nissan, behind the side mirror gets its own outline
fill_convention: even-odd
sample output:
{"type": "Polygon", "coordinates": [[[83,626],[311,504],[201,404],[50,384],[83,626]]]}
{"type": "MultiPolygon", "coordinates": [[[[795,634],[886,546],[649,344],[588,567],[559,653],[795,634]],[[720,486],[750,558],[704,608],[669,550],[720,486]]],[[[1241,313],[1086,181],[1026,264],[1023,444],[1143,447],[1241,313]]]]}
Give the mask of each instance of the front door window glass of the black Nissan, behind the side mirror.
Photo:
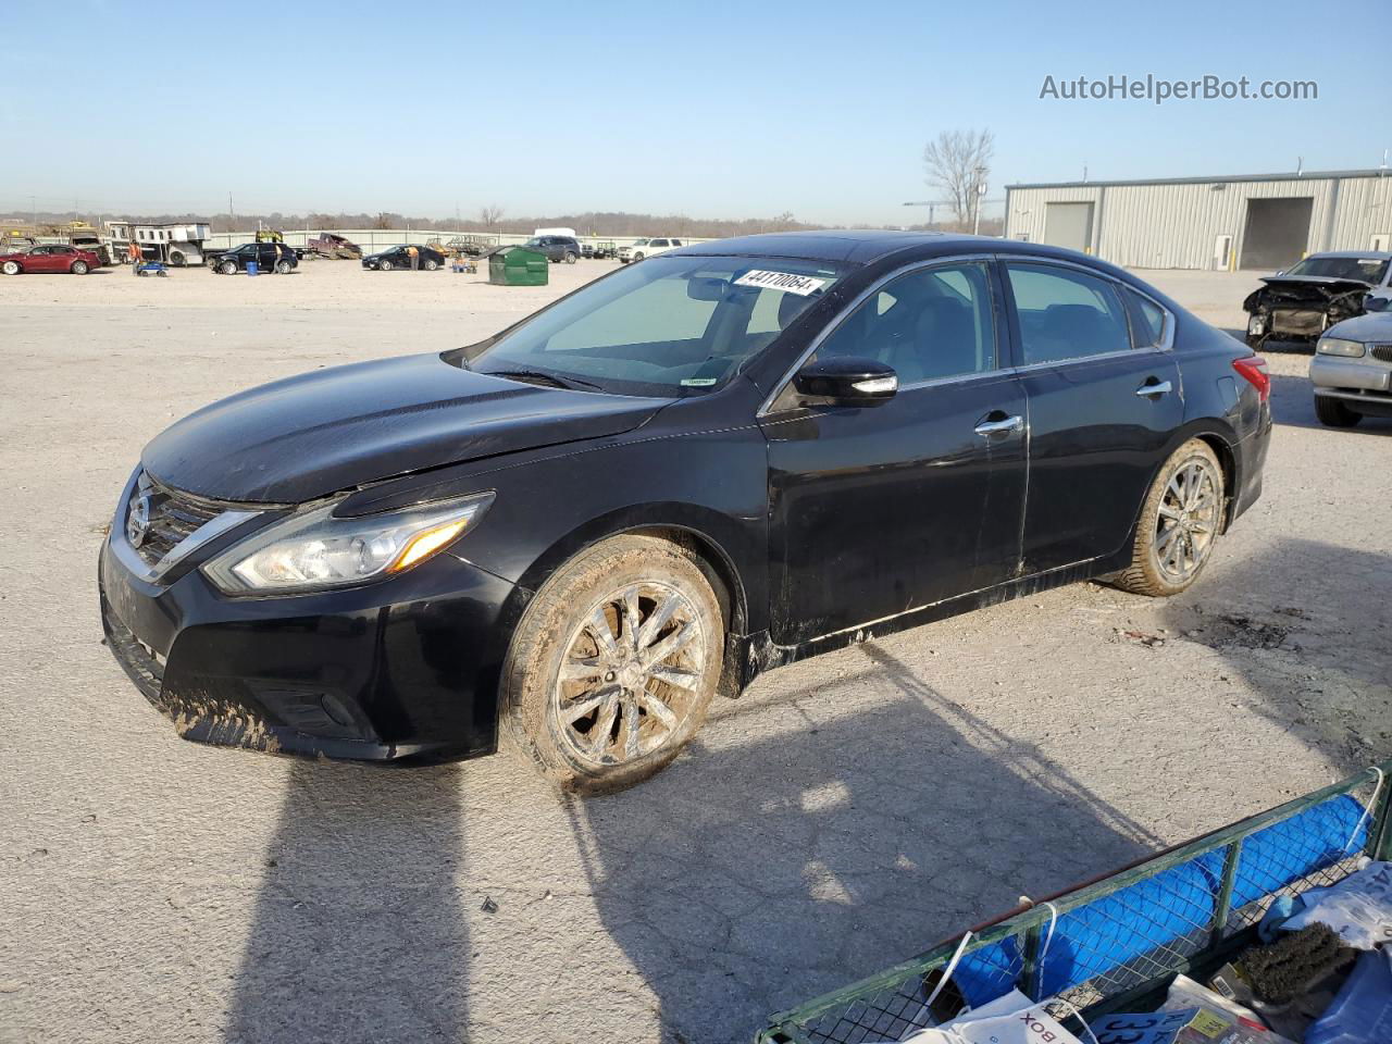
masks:
{"type": "Polygon", "coordinates": [[[995,369],[987,266],[919,269],[887,283],[817,349],[837,355],[878,359],[901,387],[995,369]]]}

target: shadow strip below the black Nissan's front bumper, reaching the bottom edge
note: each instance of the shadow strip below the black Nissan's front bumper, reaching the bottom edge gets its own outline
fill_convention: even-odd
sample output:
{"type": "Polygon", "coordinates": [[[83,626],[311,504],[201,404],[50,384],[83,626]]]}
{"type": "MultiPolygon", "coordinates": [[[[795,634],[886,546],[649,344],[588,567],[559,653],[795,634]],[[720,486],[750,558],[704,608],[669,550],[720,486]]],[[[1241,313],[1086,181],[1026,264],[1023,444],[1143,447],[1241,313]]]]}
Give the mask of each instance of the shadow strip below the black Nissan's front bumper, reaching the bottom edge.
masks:
{"type": "Polygon", "coordinates": [[[224,1038],[466,1040],[462,825],[458,766],[292,761],[224,1038]]]}

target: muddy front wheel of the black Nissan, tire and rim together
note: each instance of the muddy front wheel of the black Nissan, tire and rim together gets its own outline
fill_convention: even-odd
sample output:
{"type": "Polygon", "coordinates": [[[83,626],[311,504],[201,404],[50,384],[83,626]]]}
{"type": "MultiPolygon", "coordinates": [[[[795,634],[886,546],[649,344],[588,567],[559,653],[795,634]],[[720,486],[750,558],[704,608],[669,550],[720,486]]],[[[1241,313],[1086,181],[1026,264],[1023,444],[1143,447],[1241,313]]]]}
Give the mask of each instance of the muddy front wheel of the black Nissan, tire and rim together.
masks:
{"type": "Polygon", "coordinates": [[[507,732],[565,791],[632,786],[700,728],[724,642],[720,604],[690,554],[646,536],[604,540],[557,569],[523,612],[503,667],[507,732]],[[631,596],[636,628],[624,608],[631,596]],[[635,656],[674,643],[651,671],[635,656]],[[565,661],[576,667],[562,679],[565,661]]]}

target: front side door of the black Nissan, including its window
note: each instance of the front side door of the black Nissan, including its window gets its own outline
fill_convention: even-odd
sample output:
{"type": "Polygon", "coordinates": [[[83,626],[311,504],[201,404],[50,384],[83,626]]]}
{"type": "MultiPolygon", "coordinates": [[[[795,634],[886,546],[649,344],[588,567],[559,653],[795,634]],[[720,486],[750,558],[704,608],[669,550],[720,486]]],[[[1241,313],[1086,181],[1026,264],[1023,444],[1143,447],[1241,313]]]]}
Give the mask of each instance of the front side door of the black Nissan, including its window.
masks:
{"type": "Polygon", "coordinates": [[[774,640],[795,644],[1009,579],[1025,505],[1025,393],[1001,369],[991,264],[941,262],[870,292],[814,358],[892,366],[898,394],[784,393],[768,440],[774,640]]]}

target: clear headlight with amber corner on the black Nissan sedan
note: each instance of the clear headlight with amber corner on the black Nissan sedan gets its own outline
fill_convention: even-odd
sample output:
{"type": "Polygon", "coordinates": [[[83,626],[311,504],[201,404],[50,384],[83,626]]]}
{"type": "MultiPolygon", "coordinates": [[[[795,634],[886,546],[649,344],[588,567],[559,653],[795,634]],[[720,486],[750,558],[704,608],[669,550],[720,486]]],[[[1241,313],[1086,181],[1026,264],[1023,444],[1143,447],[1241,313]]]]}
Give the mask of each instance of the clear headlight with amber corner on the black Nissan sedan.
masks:
{"type": "Polygon", "coordinates": [[[491,493],[362,518],[334,518],[338,503],[291,515],[203,565],[227,594],[345,587],[419,565],[487,511],[491,493]]]}

